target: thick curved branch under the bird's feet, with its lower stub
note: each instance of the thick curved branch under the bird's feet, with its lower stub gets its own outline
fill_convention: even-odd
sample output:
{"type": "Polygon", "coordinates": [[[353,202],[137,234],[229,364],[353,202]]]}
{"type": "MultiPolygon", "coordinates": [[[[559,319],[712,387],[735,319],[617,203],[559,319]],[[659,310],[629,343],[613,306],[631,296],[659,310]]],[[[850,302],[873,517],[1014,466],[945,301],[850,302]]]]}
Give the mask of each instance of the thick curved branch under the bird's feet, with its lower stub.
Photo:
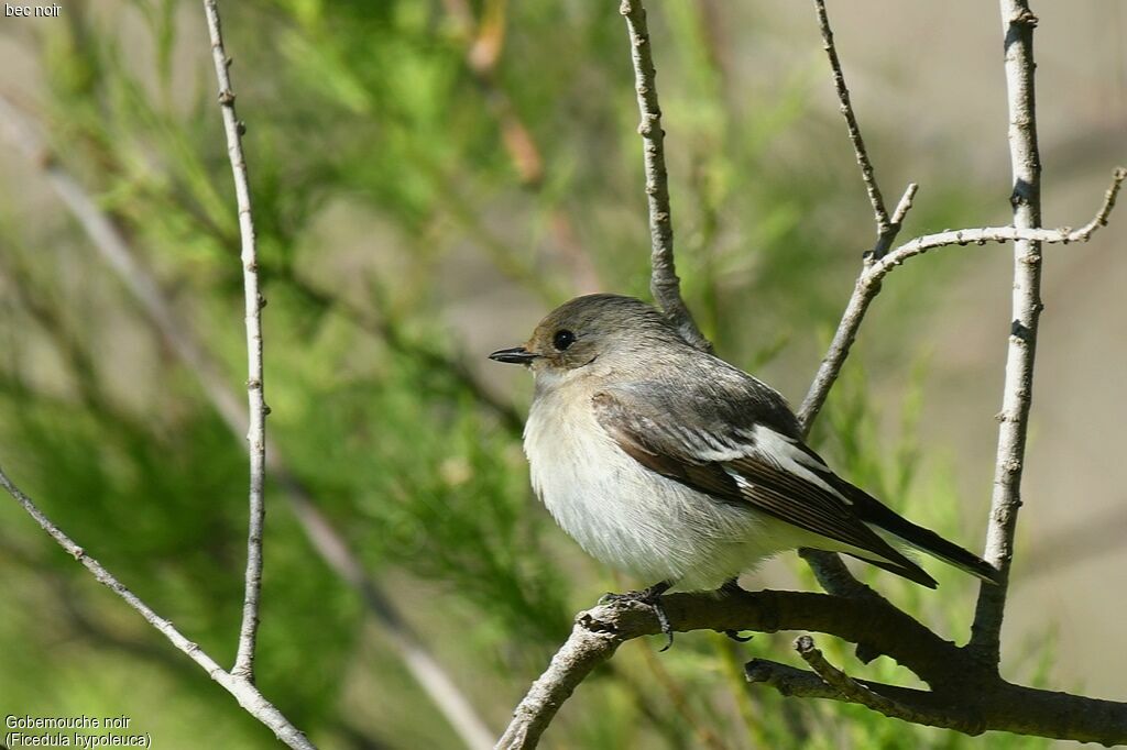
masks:
{"type": "MultiPolygon", "coordinates": [[[[1019,734],[1117,744],[1127,742],[1127,703],[1012,685],[984,669],[968,649],[940,639],[887,601],[827,593],[756,591],[673,593],[663,597],[673,628],[710,631],[814,631],[871,646],[907,667],[934,691],[852,680],[848,694],[816,673],[756,660],[753,681],[786,695],[860,702],[904,712],[906,721],[946,726],[967,734],[1002,730],[1019,734]],[[967,699],[974,696],[973,705],[967,699]],[[907,718],[914,716],[915,718],[907,718]]],[[[504,750],[534,748],[575,688],[627,641],[657,635],[653,609],[637,602],[600,605],[580,613],[564,648],[533,685],[498,743],[504,750]]],[[[826,675],[833,669],[825,666],[826,675]]],[[[836,670],[835,670],[836,671],[836,670]]],[[[832,677],[832,679],[838,679],[832,677]]]]}

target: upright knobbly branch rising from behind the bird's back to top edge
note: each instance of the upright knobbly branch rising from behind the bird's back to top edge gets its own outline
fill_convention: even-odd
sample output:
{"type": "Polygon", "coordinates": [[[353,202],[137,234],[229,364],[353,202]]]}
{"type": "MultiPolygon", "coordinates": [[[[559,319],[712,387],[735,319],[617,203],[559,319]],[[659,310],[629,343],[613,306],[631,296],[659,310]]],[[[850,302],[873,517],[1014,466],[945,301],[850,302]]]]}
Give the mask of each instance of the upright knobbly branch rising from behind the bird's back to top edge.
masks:
{"type": "Polygon", "coordinates": [[[619,12],[625,16],[630,33],[630,56],[635,68],[635,90],[638,92],[638,134],[641,135],[646,161],[646,196],[649,205],[650,293],[686,341],[698,349],[711,351],[712,345],[696,328],[692,313],[681,298],[681,279],[673,262],[673,216],[669,209],[669,176],[665,169],[665,131],[662,130],[662,107],[657,101],[657,71],[649,45],[646,9],[641,0],[622,0],[619,12]]]}

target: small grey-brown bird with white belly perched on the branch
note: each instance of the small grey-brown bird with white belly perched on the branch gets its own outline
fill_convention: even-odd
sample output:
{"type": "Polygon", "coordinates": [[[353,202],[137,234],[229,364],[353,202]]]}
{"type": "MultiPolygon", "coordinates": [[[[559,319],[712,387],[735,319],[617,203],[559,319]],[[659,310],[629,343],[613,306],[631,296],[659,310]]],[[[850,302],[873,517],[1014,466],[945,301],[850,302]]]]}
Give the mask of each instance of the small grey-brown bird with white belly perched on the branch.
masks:
{"type": "MultiPolygon", "coordinates": [[[[784,550],[841,552],[929,588],[897,550],[996,582],[962,547],[906,520],[826,466],[773,389],[690,346],[632,297],[577,297],[527,343],[535,395],[524,450],[536,494],[591,555],[654,586],[715,589],[784,550]]],[[[668,630],[667,630],[667,634],[668,630]]]]}

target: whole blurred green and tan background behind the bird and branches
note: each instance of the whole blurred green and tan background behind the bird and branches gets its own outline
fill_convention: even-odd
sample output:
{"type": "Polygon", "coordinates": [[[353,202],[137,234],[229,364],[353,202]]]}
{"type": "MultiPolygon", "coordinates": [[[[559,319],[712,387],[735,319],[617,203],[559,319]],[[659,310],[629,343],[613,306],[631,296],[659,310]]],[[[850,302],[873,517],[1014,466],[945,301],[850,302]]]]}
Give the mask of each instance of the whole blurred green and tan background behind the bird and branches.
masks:
{"type": "MultiPolygon", "coordinates": [[[[873,233],[813,8],[649,5],[686,298],[721,356],[797,403],[873,233]]],[[[1067,5],[1038,9],[1049,225],[1088,221],[1127,119],[1119,6],[1067,5]]],[[[276,453],[499,733],[573,614],[636,583],[585,557],[534,500],[520,447],[531,383],[483,359],[577,293],[648,296],[618,6],[243,0],[221,10],[269,303],[276,453]]],[[[829,10],[886,200],[909,179],[923,185],[902,239],[1008,223],[996,9],[867,0],[829,10]]],[[[0,465],[230,663],[241,438],[198,366],[50,187],[64,173],[92,198],[241,401],[238,224],[201,3],[68,1],[60,18],[0,23],[3,124],[44,144],[28,158],[16,132],[0,154],[0,465]]],[[[1049,251],[1017,563],[1030,580],[1014,592],[1004,673],[1122,698],[1125,658],[1085,645],[1116,630],[1101,591],[1127,588],[1121,399],[1108,405],[1127,367],[1109,346],[1127,323],[1127,261],[1111,252],[1125,236],[1112,221],[1089,247],[1049,251]]],[[[1008,266],[1003,248],[952,249],[890,277],[815,432],[841,473],[971,548],[990,495],[1008,266]]],[[[385,626],[316,552],[286,488],[273,483],[268,500],[264,693],[319,747],[463,747],[385,626]]],[[[862,575],[961,640],[975,587],[929,570],[939,592],[862,575]]],[[[276,747],[2,498],[0,582],[0,714],[125,714],[156,748],[276,747]]],[[[766,584],[814,582],[788,555],[745,581],[766,584]]],[[[792,637],[738,645],[696,633],[660,655],[630,643],[544,744],[1047,744],[971,740],[745,685],[742,664],[791,659],[792,637]]],[[[911,684],[888,660],[863,667],[832,639],[818,643],[851,673],[911,684]]]]}

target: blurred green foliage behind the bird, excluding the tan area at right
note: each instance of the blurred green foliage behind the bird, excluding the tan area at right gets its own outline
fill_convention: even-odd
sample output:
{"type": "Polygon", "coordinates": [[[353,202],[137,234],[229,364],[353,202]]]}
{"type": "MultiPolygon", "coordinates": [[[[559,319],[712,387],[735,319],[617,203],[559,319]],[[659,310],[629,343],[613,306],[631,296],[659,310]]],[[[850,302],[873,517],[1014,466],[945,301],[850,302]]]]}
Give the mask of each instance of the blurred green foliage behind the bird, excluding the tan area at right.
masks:
{"type": "MultiPolygon", "coordinates": [[[[238,223],[197,5],[76,6],[41,39],[42,111],[62,167],[130,238],[237,391],[238,223]]],[[[606,289],[647,296],[622,20],[613,3],[499,0],[254,0],[223,11],[269,301],[269,430],[367,571],[408,602],[409,619],[500,727],[571,613],[611,583],[531,497],[520,436],[482,398],[485,389],[508,399],[508,381],[491,382],[507,374],[451,363],[481,328],[507,316],[531,328],[574,293],[577,268],[606,289]],[[504,18],[492,27],[500,56],[474,70],[474,25],[490,14],[504,18]],[[514,145],[521,132],[531,146],[514,145]],[[534,150],[539,177],[522,172],[522,148],[534,150]],[[482,296],[488,320],[463,320],[482,296]]],[[[858,211],[861,186],[838,123],[811,107],[825,75],[814,51],[798,72],[753,78],[737,95],[704,12],[677,2],[651,11],[678,269],[718,351],[765,367],[797,394],[817,333],[831,330],[851,288],[869,216],[858,211]],[[844,158],[811,158],[820,141],[844,158]]],[[[745,33],[752,43],[769,34],[745,33]]],[[[929,185],[912,221],[953,224],[971,200],[929,185]]],[[[0,297],[0,336],[11,342],[0,373],[2,464],[158,611],[230,661],[245,554],[240,438],[139,322],[76,226],[5,220],[6,243],[23,249],[0,267],[12,291],[0,297]]],[[[942,277],[944,266],[934,268],[942,277]]],[[[897,289],[877,307],[906,310],[877,321],[881,343],[857,355],[862,361],[881,366],[896,354],[904,366],[925,305],[897,303],[925,286],[898,280],[897,289]]],[[[943,472],[919,462],[920,399],[903,399],[889,437],[880,408],[895,414],[902,399],[878,403],[851,360],[819,439],[843,474],[958,538],[967,529],[943,472]]],[[[265,693],[322,747],[456,747],[396,652],[363,626],[361,602],[313,552],[282,488],[268,495],[265,693]]],[[[18,602],[0,618],[0,706],[125,711],[161,748],[275,747],[11,503],[0,501],[0,580],[18,602]]],[[[926,622],[965,632],[969,582],[929,570],[940,595],[862,574],[926,622]]],[[[629,644],[565,708],[547,744],[686,748],[708,733],[733,747],[967,743],[748,688],[743,661],[786,658],[789,640],[737,648],[685,635],[657,659],[644,653],[653,644],[629,644]]],[[[859,666],[832,639],[819,646],[851,673],[911,681],[884,660],[859,666]]],[[[1051,649],[1030,652],[1044,667],[1051,649]]]]}

